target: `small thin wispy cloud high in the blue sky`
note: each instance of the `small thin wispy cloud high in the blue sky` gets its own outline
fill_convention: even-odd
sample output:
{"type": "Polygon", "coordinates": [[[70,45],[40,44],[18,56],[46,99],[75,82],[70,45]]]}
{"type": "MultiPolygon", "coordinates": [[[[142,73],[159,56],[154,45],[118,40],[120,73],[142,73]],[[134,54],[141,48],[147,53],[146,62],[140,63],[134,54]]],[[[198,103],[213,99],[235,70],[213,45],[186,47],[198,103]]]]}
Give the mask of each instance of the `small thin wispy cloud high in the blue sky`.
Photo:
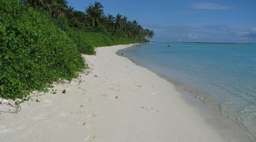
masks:
{"type": "Polygon", "coordinates": [[[206,3],[206,2],[194,2],[192,6],[193,8],[199,9],[199,10],[231,10],[234,8],[232,6],[224,6],[220,4],[206,3]]]}

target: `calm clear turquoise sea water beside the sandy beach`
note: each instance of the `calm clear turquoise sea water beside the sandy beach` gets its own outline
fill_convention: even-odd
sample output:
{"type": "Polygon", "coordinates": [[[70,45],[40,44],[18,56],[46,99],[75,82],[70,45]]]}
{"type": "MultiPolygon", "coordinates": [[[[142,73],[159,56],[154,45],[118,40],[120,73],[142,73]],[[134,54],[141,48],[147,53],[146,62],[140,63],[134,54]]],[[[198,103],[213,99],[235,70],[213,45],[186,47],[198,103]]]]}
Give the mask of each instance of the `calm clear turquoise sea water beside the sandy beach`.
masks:
{"type": "Polygon", "coordinates": [[[152,43],[120,53],[179,84],[256,136],[256,44],[152,43]]]}

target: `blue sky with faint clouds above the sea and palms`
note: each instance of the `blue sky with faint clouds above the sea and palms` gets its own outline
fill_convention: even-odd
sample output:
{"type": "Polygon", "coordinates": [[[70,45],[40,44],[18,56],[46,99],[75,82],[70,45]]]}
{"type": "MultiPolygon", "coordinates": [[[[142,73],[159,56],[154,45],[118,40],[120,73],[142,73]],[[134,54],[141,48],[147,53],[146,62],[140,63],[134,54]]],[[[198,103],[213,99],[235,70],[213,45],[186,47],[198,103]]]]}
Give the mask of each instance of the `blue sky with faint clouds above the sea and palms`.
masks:
{"type": "MultiPolygon", "coordinates": [[[[153,41],[256,43],[256,0],[98,0],[105,13],[121,13],[154,30],[153,41]]],[[[85,11],[93,0],[68,0],[85,11]]]]}

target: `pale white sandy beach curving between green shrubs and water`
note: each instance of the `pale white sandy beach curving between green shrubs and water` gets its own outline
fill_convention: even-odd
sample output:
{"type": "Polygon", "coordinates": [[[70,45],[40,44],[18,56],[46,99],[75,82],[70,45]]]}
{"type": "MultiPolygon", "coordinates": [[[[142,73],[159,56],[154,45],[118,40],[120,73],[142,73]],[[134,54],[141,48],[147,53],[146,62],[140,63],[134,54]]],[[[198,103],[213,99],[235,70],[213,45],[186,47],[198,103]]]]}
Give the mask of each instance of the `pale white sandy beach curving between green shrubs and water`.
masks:
{"type": "Polygon", "coordinates": [[[116,55],[126,47],[97,48],[84,55],[89,74],[34,96],[18,114],[1,113],[0,141],[251,141],[240,126],[116,55]]]}

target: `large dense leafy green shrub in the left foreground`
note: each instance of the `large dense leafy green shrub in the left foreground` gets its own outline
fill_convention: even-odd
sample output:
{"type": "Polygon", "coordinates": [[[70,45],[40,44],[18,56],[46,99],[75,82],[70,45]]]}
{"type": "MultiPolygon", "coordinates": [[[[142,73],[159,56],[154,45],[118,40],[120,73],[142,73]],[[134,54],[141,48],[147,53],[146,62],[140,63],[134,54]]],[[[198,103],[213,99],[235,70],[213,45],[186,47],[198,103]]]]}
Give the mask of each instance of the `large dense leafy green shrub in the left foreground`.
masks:
{"type": "Polygon", "coordinates": [[[0,1],[0,97],[23,98],[84,67],[77,44],[54,21],[17,0],[0,1]]]}

